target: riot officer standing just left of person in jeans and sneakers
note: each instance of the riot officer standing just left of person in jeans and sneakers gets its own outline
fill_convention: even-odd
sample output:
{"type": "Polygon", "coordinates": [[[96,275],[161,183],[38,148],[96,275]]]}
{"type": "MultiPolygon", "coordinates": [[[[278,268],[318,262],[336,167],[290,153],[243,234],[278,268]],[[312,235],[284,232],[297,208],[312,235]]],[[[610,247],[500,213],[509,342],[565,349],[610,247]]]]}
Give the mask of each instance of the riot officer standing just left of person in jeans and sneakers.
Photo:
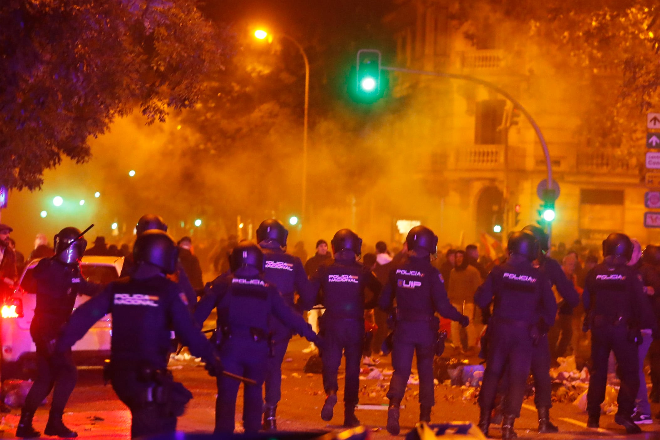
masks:
{"type": "Polygon", "coordinates": [[[614,352],[621,387],[614,422],[629,434],[642,429],[631,420],[640,387],[637,340],[640,329],[653,329],[657,323],[647,306],[642,277],[626,265],[633,245],[625,234],[610,234],[603,240],[603,263],[589,271],[582,294],[591,328],[591,375],[587,391],[588,427],[599,427],[601,404],[607,386],[607,361],[614,352]]]}

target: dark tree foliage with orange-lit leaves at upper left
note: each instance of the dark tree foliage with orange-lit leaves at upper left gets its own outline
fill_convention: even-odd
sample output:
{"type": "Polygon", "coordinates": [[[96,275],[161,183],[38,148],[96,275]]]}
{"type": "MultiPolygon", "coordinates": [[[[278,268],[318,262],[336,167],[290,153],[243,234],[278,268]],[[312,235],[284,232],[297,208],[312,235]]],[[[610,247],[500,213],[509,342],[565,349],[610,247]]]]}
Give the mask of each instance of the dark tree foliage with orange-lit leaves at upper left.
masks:
{"type": "Polygon", "coordinates": [[[224,41],[192,0],[0,2],[0,182],[38,189],[115,117],[191,106],[224,41]]]}

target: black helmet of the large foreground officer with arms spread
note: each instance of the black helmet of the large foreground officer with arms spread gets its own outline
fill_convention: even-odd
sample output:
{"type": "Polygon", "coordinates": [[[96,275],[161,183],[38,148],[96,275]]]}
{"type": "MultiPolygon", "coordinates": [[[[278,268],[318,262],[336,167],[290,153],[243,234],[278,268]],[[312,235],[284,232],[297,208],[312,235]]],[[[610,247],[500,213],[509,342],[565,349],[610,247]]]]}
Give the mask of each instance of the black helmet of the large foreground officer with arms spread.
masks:
{"type": "Polygon", "coordinates": [[[174,273],[179,259],[179,247],[167,232],[152,229],[135,239],[133,246],[135,263],[149,263],[159,267],[165,274],[174,273]]]}

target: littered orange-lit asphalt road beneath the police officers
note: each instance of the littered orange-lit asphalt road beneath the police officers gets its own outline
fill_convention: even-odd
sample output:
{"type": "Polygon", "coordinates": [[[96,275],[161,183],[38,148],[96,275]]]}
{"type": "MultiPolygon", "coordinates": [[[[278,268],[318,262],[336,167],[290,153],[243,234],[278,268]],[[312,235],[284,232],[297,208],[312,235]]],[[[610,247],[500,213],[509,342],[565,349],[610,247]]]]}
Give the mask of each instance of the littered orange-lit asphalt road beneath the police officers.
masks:
{"type": "MultiPolygon", "coordinates": [[[[329,423],[320,418],[324,394],[321,375],[305,374],[303,366],[308,354],[302,349],[306,341],[295,338],[289,346],[286,361],[282,366],[282,402],[278,408],[278,425],[286,430],[308,429],[342,429],[343,422],[343,380],[340,379],[340,402],[335,407],[335,417],[329,423]]],[[[213,431],[215,412],[215,380],[209,377],[199,364],[193,360],[174,361],[171,365],[174,375],[194,394],[186,413],[179,420],[179,429],[187,433],[211,433],[213,431]]],[[[389,358],[383,358],[378,367],[389,368],[389,358]]],[[[340,370],[340,377],[343,372],[340,370]]],[[[361,404],[387,404],[385,392],[389,384],[389,376],[382,380],[362,380],[360,384],[361,404]]],[[[477,422],[479,406],[475,398],[464,398],[466,389],[451,387],[444,384],[436,385],[436,406],[432,413],[433,423],[451,421],[477,422]]],[[[413,429],[419,415],[417,402],[418,386],[409,385],[401,410],[401,435],[413,429]]],[[[242,407],[242,394],[239,394],[238,414],[236,425],[240,429],[240,408],[242,407]]],[[[80,369],[79,383],[69,402],[69,413],[65,414],[65,422],[79,431],[83,439],[128,439],[130,415],[126,408],[117,400],[110,386],[104,386],[100,369],[80,369]]],[[[383,406],[386,408],[386,406],[383,406]]],[[[653,405],[653,411],[658,412],[660,404],[653,405]]],[[[3,438],[12,438],[18,423],[19,410],[13,410],[2,418],[0,430],[3,438]]],[[[358,410],[356,412],[362,424],[372,432],[374,439],[391,437],[385,431],[385,410],[358,410]]],[[[625,431],[614,424],[613,416],[602,416],[601,429],[587,429],[586,414],[577,406],[568,403],[555,404],[551,411],[553,422],[560,428],[559,434],[539,435],[536,432],[537,420],[533,401],[527,400],[523,405],[521,418],[516,421],[517,434],[522,439],[592,439],[624,437],[625,431]]],[[[42,406],[35,418],[35,427],[43,430],[48,418],[48,405],[42,406]]],[[[660,439],[660,424],[643,425],[645,434],[628,436],[626,438],[660,439]]],[[[491,428],[491,435],[500,437],[498,427],[491,428]]]]}

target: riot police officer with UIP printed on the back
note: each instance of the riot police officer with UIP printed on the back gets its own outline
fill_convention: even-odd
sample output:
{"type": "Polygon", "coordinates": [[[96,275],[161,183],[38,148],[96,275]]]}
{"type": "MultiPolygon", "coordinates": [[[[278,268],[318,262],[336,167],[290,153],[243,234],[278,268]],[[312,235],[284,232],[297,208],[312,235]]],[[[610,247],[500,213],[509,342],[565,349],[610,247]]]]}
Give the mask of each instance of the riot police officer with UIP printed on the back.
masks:
{"type": "Polygon", "coordinates": [[[430,256],[436,254],[438,237],[426,226],[415,226],[406,237],[409,258],[389,272],[380,298],[380,307],[390,311],[397,300],[396,325],[392,338],[392,367],[389,383],[387,432],[399,434],[399,405],[411,373],[413,354],[417,357],[419,373],[420,421],[430,422],[435,404],[433,357],[438,344],[440,320],[434,313],[458,321],[467,327],[469,319],[461,315],[447,299],[442,275],[431,265],[430,256]]]}

